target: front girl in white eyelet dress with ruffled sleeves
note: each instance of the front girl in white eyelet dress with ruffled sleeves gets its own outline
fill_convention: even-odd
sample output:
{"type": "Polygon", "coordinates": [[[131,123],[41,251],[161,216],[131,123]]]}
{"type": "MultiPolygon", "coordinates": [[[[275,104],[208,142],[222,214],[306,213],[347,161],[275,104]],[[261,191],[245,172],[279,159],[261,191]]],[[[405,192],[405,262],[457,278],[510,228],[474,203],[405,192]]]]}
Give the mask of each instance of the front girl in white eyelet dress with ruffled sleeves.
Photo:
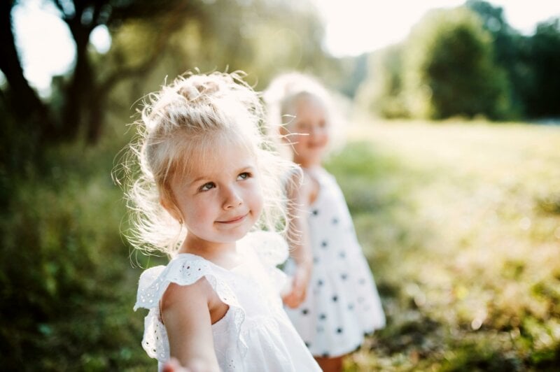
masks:
{"type": "Polygon", "coordinates": [[[132,242],[172,257],[142,273],[142,345],[159,368],[319,371],[282,307],[273,232],[292,164],[267,150],[257,94],[239,74],[177,78],[151,96],[132,145],[132,242]],[[257,230],[248,234],[251,230],[257,230]]]}

